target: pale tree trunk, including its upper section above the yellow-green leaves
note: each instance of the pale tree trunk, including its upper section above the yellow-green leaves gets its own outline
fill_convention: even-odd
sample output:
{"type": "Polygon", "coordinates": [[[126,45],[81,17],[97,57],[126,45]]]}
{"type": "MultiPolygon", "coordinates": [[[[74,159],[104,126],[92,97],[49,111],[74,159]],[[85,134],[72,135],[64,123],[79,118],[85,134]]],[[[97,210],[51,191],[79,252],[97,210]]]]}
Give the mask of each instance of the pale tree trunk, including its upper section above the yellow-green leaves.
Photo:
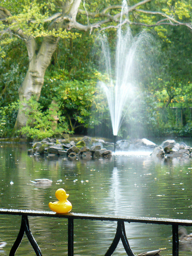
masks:
{"type": "MultiPolygon", "coordinates": [[[[76,15],[81,0],[67,0],[65,2],[58,1],[58,3],[59,2],[62,6],[61,25],[63,26],[63,29],[67,28],[68,30],[71,30],[72,28],[76,27],[76,15]],[[66,15],[67,19],[69,19],[67,25],[65,25],[66,18],[64,18],[66,15]]],[[[57,29],[57,26],[58,28],[60,28],[61,25],[59,24],[58,20],[58,23],[56,21],[56,25],[54,23],[50,25],[50,29],[51,27],[57,29]]],[[[29,38],[27,38],[27,36],[25,36],[23,34],[23,31],[20,29],[17,30],[17,34],[18,33],[22,33],[22,38],[25,38],[26,40],[26,46],[29,56],[29,68],[26,77],[18,91],[20,106],[12,136],[14,135],[15,131],[19,130],[27,123],[26,110],[29,108],[27,101],[32,96],[34,96],[36,100],[39,99],[41,88],[44,84],[46,69],[50,64],[51,57],[56,50],[59,40],[59,38],[57,37],[47,36],[43,39],[40,48],[38,48],[34,37],[29,36],[29,38]]]]}

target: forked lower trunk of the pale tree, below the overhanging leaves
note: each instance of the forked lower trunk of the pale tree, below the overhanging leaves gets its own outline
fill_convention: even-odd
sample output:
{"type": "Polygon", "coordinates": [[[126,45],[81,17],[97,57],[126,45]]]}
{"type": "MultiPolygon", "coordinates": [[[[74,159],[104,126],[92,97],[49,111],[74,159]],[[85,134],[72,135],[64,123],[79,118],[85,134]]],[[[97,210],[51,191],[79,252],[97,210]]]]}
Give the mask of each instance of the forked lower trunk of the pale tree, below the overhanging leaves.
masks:
{"type": "MultiPolygon", "coordinates": [[[[45,37],[37,51],[37,45],[34,38],[27,41],[27,50],[29,55],[29,68],[26,77],[20,86],[19,100],[20,107],[17,114],[17,119],[14,126],[14,131],[26,125],[27,116],[25,115],[28,108],[27,101],[34,96],[39,99],[41,88],[44,84],[44,76],[47,67],[50,64],[51,57],[56,50],[58,38],[49,36],[45,37]]],[[[14,133],[13,131],[13,133],[14,133]]]]}

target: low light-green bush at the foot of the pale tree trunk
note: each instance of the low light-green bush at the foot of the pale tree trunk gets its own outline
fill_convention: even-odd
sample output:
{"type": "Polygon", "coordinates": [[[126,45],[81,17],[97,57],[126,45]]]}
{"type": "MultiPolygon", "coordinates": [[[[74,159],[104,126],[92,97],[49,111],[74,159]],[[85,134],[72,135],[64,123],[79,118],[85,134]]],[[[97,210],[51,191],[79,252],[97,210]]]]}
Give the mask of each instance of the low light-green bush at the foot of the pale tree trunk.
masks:
{"type": "Polygon", "coordinates": [[[41,111],[41,106],[36,100],[30,99],[28,105],[30,109],[26,111],[27,124],[18,132],[31,139],[44,139],[69,133],[65,118],[60,116],[55,102],[52,102],[49,109],[44,112],[41,111]],[[58,124],[55,117],[59,120],[58,124]]]}

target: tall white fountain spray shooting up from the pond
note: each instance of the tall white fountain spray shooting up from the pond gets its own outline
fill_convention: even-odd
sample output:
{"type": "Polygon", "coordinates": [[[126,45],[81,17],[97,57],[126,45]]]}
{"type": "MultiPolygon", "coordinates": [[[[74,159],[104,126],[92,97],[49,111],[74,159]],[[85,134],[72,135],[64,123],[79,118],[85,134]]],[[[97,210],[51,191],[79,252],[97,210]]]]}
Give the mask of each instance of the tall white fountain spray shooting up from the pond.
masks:
{"type": "MultiPolygon", "coordinates": [[[[108,100],[113,135],[118,135],[122,120],[127,112],[124,110],[126,102],[129,106],[138,98],[136,87],[138,77],[141,75],[141,65],[143,65],[144,52],[148,46],[148,35],[145,32],[133,36],[128,26],[126,31],[122,31],[122,17],[128,15],[126,1],[123,0],[121,18],[117,35],[117,45],[115,54],[115,78],[112,76],[112,61],[108,40],[105,35],[101,36],[101,47],[104,57],[106,74],[109,77],[109,83],[100,82],[106,98],[108,100]],[[125,113],[123,113],[123,110],[125,113]],[[122,116],[123,115],[123,116],[122,116]]],[[[147,49],[148,50],[148,49],[147,49]]],[[[137,90],[138,91],[138,90],[137,90]]],[[[114,147],[115,152],[115,147],[114,147]]]]}

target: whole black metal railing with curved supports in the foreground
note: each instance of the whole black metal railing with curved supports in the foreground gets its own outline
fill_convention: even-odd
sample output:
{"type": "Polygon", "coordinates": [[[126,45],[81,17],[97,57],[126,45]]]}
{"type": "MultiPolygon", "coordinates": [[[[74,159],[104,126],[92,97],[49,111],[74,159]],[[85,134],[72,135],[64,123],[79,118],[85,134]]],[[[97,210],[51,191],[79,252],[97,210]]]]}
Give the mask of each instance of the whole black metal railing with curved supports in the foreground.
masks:
{"type": "Polygon", "coordinates": [[[35,241],[30,227],[28,216],[36,217],[51,217],[51,218],[67,218],[68,219],[68,256],[74,255],[74,219],[81,220],[99,220],[99,221],[115,221],[117,222],[117,230],[115,238],[109,247],[105,256],[111,256],[115,251],[120,239],[122,241],[123,247],[129,256],[135,256],[133,253],[129,242],[126,237],[125,222],[135,222],[135,223],[150,223],[150,224],[163,224],[172,225],[173,234],[173,256],[179,255],[179,237],[178,237],[178,227],[180,225],[192,226],[192,220],[176,220],[176,219],[161,219],[161,218],[134,218],[134,217],[113,217],[113,216],[102,216],[102,215],[89,215],[89,214],[55,214],[52,211],[33,211],[33,210],[18,210],[18,209],[0,209],[0,214],[2,215],[19,215],[22,216],[22,222],[20,225],[20,230],[18,236],[10,250],[9,255],[15,255],[17,248],[19,247],[24,234],[26,233],[29,242],[31,243],[36,255],[41,256],[42,253],[40,248],[35,241]]]}

